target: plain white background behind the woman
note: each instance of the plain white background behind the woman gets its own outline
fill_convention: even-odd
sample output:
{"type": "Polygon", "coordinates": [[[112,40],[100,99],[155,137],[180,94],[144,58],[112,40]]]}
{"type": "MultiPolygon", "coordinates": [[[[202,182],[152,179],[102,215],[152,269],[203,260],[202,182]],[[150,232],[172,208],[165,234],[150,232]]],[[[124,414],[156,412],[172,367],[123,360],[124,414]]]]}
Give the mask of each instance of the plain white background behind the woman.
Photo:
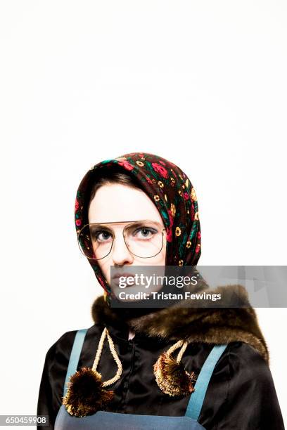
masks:
{"type": "MultiPolygon", "coordinates": [[[[35,414],[46,351],[102,293],[74,201],[145,151],[191,179],[200,264],[286,264],[285,1],[1,1],[1,414],[35,414]]],[[[286,309],[258,309],[287,416],[286,309]]],[[[96,351],[96,345],[95,345],[96,351]]]]}

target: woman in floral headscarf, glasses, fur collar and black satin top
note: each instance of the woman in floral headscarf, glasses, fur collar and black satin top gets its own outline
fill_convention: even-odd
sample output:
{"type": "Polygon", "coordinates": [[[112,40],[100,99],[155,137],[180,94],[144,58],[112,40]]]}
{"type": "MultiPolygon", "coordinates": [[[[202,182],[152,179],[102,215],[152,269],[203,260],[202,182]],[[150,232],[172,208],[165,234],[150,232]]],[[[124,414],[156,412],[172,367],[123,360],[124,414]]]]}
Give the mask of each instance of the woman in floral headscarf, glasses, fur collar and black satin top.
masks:
{"type": "MultiPolygon", "coordinates": [[[[96,164],[77,190],[75,224],[79,246],[104,292],[91,308],[94,325],[84,332],[82,344],[79,340],[72,373],[67,369],[79,339],[76,331],[63,334],[46,354],[37,414],[49,415],[50,426],[38,429],[63,429],[68,415],[74,419],[70,428],[75,419],[82,425],[99,416],[98,410],[117,412],[117,417],[182,418],[197,395],[200,370],[222,346],[197,422],[205,429],[283,429],[269,353],[253,308],[186,308],[180,301],[166,308],[111,306],[120,291],[111,266],[198,263],[198,202],[179,167],[140,152],[96,164]]],[[[239,292],[248,304],[243,288],[239,292]]],[[[101,420],[96,422],[93,428],[101,428],[101,420]]],[[[162,425],[174,428],[167,423],[162,425]]]]}

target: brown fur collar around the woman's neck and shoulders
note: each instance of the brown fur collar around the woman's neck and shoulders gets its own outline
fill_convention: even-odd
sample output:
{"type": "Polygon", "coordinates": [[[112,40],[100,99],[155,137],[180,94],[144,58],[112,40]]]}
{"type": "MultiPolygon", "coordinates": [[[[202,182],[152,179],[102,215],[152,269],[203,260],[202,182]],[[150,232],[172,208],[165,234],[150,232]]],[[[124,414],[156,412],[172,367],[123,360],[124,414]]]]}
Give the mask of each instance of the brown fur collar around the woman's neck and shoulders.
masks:
{"type": "MultiPolygon", "coordinates": [[[[179,301],[168,308],[160,308],[155,312],[151,311],[138,318],[129,319],[127,325],[134,332],[170,341],[184,339],[188,342],[208,344],[242,341],[253,346],[269,363],[267,344],[245,288],[242,285],[220,286],[208,289],[208,293],[222,293],[222,297],[229,304],[232,303],[232,297],[236,297],[236,303],[239,298],[244,307],[186,308],[179,301]]],[[[125,321],[117,315],[117,311],[108,307],[103,296],[94,301],[91,315],[94,323],[127,327],[125,321]]]]}

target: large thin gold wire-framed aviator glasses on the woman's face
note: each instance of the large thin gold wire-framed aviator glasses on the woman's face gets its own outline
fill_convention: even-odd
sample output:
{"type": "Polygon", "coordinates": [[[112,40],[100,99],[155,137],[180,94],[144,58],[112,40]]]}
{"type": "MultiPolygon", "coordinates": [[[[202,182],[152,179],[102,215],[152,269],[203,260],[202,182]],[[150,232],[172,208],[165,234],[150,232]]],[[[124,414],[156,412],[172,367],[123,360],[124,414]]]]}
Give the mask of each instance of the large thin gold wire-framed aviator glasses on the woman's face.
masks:
{"type": "Polygon", "coordinates": [[[122,235],[129,252],[142,259],[150,259],[162,250],[165,228],[157,221],[122,221],[113,223],[89,223],[79,230],[78,244],[88,259],[101,260],[110,254],[115,233],[110,225],[125,224],[122,235]]]}

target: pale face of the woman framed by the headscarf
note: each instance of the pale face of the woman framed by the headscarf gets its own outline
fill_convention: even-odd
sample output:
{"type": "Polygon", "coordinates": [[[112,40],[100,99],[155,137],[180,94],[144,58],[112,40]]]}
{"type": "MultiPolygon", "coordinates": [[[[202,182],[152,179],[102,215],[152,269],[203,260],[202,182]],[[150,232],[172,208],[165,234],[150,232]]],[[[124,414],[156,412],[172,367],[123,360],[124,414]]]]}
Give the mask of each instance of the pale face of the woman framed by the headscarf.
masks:
{"type": "MultiPolygon", "coordinates": [[[[123,229],[129,224],[128,221],[151,220],[158,223],[160,228],[165,228],[160,212],[144,191],[120,183],[102,185],[90,202],[88,216],[89,223],[115,223],[108,226],[110,230],[113,230],[115,236],[113,247],[106,257],[98,260],[101,271],[115,294],[122,291],[122,289],[118,289],[115,285],[113,286],[113,282],[112,284],[110,283],[110,266],[119,268],[125,266],[125,269],[128,269],[127,266],[165,266],[165,231],[163,232],[161,251],[151,258],[141,258],[129,252],[123,237],[123,229]],[[127,222],[122,223],[122,221],[127,222]]],[[[143,242],[142,239],[147,232],[136,234],[139,235],[138,237],[141,239],[141,243],[144,244],[143,246],[146,246],[146,242],[143,242]]],[[[99,238],[102,242],[103,240],[111,240],[105,234],[102,234],[99,238]]],[[[139,287],[135,285],[128,288],[130,293],[139,291],[139,287]]]]}

